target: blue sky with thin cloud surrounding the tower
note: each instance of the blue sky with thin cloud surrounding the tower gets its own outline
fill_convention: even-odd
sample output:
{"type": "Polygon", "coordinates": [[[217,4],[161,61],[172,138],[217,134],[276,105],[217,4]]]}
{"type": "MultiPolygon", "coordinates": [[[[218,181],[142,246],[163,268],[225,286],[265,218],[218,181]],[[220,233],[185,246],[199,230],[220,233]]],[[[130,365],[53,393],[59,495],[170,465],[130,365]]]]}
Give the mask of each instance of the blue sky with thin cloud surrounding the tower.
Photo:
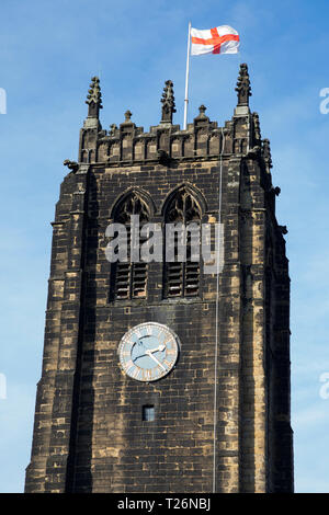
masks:
{"type": "Polygon", "coordinates": [[[41,376],[52,227],[64,159],[77,159],[90,78],[99,75],[103,128],[160,119],[163,83],[174,83],[182,124],[188,22],[228,24],[237,56],[191,59],[191,121],[202,103],[224,124],[236,105],[240,62],[249,67],[251,110],[271,140],[277,219],[287,225],[292,278],[292,408],[297,492],[329,492],[329,3],[177,0],[2,0],[0,88],[0,492],[22,492],[41,376]]]}

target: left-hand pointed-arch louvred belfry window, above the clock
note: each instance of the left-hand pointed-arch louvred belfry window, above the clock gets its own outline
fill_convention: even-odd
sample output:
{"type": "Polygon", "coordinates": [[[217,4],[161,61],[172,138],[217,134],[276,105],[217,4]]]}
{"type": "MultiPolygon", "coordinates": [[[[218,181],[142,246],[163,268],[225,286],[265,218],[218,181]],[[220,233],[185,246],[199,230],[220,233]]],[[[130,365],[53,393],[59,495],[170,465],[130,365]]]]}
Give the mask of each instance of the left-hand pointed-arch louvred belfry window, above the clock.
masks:
{"type": "MultiPolygon", "coordinates": [[[[114,221],[123,224],[127,231],[127,262],[112,264],[111,268],[111,298],[132,299],[145,298],[147,295],[147,263],[131,262],[131,216],[139,216],[140,228],[149,220],[149,213],[145,202],[134,192],[127,195],[116,207],[114,221]]],[[[139,238],[139,247],[143,240],[139,238]]]]}

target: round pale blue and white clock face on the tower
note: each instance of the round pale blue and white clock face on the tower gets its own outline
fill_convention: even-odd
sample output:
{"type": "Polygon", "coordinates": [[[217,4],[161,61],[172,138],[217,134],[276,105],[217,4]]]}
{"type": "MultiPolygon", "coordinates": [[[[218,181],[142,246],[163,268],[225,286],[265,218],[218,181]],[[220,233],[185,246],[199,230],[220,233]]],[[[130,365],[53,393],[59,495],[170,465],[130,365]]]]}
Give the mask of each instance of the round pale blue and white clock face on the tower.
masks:
{"type": "Polygon", "coordinates": [[[167,325],[146,322],[131,329],[118,345],[124,373],[138,381],[156,381],[172,370],[179,355],[179,339],[167,325]]]}

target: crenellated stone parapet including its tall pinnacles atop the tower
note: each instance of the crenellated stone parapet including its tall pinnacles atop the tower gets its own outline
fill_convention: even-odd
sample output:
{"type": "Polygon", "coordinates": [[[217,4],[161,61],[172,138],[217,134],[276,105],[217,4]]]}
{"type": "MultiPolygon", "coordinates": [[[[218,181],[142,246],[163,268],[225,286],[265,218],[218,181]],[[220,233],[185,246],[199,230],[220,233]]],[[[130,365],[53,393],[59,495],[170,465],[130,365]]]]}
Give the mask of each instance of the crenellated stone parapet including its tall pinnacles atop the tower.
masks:
{"type": "Polygon", "coordinates": [[[198,114],[185,130],[173,124],[175,102],[173,83],[164,83],[161,96],[161,119],[148,131],[137,126],[127,110],[121,124],[112,123],[104,130],[99,122],[102,107],[100,81],[92,78],[87,103],[88,117],[80,134],[79,162],[116,167],[159,162],[169,164],[182,160],[216,160],[222,154],[229,158],[256,158],[263,173],[268,174],[265,188],[271,187],[271,153],[268,139],[261,139],[258,113],[251,113],[249,96],[250,79],[246,64],[240,65],[237,82],[237,106],[230,121],[224,126],[211,121],[206,107],[201,105],[198,114]]]}

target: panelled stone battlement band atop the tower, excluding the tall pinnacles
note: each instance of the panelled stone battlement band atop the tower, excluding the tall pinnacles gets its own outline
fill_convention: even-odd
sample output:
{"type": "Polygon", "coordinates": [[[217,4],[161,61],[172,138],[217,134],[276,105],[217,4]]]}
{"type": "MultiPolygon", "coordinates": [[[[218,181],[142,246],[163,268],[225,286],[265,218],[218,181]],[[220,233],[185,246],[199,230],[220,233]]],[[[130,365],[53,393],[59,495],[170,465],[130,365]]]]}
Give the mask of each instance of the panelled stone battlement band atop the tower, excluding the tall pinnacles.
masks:
{"type": "Polygon", "coordinates": [[[117,164],[118,162],[156,161],[159,151],[166,151],[171,159],[217,159],[224,154],[243,154],[249,148],[250,115],[232,118],[218,127],[205,115],[205,107],[188,124],[186,130],[180,125],[162,124],[151,126],[149,131],[136,126],[131,118],[118,126],[112,124],[109,131],[82,129],[80,162],[117,164]],[[93,150],[94,149],[94,150],[93,150]]]}

